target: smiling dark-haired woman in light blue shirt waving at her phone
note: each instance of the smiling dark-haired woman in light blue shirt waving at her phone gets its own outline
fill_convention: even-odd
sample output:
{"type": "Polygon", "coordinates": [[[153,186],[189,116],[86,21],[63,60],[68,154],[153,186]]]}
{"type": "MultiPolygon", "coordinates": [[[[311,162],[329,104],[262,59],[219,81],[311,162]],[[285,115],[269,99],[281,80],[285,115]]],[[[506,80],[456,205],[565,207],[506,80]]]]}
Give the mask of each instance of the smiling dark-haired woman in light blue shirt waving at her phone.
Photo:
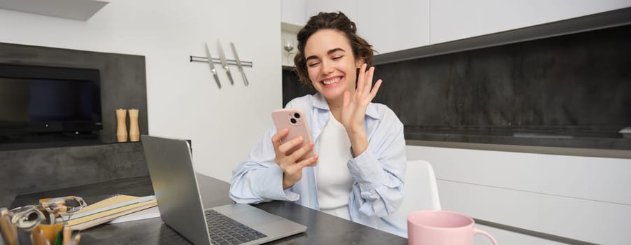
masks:
{"type": "Polygon", "coordinates": [[[372,86],[371,45],[343,13],[311,17],[297,39],[299,78],[318,92],[286,108],[302,109],[315,144],[288,154],[304,139],[281,144],[288,130],[271,127],[234,169],[230,197],[247,204],[293,201],[404,235],[392,216],[404,197],[403,125],[387,106],[371,103],[381,86],[381,80],[372,86]],[[313,148],[317,154],[297,162],[313,148]]]}

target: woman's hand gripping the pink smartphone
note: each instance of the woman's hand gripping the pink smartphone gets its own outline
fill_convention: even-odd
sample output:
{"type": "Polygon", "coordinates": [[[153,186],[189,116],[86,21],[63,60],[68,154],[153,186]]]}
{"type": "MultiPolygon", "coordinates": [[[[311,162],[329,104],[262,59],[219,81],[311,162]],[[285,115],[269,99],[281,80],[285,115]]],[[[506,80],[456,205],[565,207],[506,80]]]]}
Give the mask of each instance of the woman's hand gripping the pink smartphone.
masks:
{"type": "Polygon", "coordinates": [[[274,144],[274,153],[276,153],[274,162],[276,162],[278,167],[283,169],[283,190],[290,188],[302,179],[302,168],[314,165],[315,162],[318,162],[318,155],[315,154],[310,158],[297,162],[303,155],[312,151],[313,142],[305,144],[302,148],[299,148],[293,153],[289,153],[288,151],[301,144],[304,139],[302,139],[302,137],[296,137],[281,144],[281,139],[287,134],[289,134],[289,130],[285,128],[271,137],[271,143],[274,144]]]}

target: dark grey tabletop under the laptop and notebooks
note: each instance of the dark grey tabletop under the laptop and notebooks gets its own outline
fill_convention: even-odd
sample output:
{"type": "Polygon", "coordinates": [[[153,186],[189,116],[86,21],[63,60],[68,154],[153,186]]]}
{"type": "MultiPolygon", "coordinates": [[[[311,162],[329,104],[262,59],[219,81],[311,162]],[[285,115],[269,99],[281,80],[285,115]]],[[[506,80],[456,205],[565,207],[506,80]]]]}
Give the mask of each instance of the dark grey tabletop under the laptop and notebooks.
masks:
{"type": "MultiPolygon", "coordinates": [[[[229,183],[202,174],[197,174],[197,177],[204,207],[233,203],[227,195],[229,183]]],[[[64,195],[83,197],[90,204],[115,193],[136,196],[152,195],[153,188],[148,176],[118,179],[18,195],[11,207],[33,204],[43,197],[64,195]]],[[[291,202],[273,201],[254,206],[308,227],[304,233],[271,241],[269,244],[407,244],[407,239],[404,237],[391,235],[291,202]]],[[[82,231],[81,241],[81,244],[190,244],[168,225],[162,223],[160,218],[99,225],[82,231]]]]}

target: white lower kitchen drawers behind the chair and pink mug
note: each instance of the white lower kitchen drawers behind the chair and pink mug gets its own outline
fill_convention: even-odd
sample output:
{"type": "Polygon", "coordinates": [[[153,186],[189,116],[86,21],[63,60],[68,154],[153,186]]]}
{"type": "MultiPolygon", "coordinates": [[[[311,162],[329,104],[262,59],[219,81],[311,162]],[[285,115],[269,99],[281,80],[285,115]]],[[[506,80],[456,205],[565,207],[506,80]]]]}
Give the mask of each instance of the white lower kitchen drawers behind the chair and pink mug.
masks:
{"type": "Polygon", "coordinates": [[[443,209],[597,244],[631,244],[631,159],[406,147],[408,160],[434,167],[443,209]]]}

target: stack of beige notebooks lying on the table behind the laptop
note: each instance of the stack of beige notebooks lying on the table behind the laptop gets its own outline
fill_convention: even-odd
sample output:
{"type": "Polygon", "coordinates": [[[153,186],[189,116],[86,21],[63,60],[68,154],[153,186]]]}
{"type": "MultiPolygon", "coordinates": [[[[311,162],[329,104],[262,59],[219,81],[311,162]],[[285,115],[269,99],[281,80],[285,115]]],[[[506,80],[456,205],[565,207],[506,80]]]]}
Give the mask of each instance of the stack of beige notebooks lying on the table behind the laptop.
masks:
{"type": "Polygon", "coordinates": [[[76,212],[70,217],[67,225],[72,230],[85,230],[156,205],[154,196],[115,195],[76,212]]]}

